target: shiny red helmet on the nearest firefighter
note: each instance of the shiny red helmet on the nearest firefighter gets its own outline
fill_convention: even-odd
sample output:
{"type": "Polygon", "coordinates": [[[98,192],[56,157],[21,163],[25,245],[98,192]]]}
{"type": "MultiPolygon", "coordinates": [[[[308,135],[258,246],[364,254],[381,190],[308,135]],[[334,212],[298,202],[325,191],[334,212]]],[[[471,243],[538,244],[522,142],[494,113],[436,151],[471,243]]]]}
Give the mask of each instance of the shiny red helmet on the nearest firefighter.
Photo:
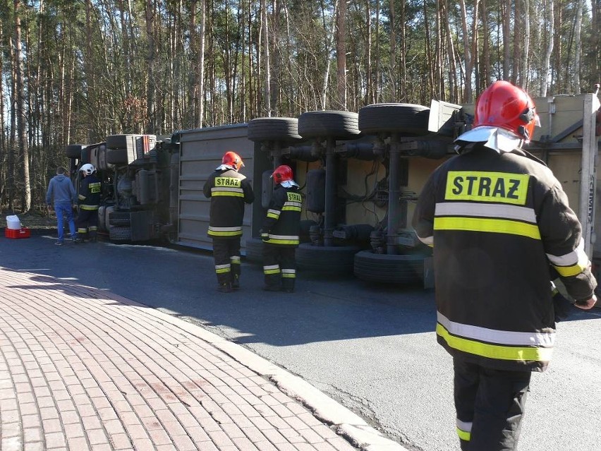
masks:
{"type": "Polygon", "coordinates": [[[504,128],[528,143],[537,124],[538,115],[533,100],[508,81],[495,81],[482,92],[476,102],[474,128],[504,128]]]}

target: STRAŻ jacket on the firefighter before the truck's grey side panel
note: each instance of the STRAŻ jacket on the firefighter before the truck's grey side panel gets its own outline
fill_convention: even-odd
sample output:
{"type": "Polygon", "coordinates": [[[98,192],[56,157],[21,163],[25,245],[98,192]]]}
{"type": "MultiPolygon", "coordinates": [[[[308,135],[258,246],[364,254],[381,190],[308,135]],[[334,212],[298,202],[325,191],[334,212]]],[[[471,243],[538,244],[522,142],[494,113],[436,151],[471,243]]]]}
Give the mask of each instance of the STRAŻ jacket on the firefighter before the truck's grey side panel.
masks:
{"type": "Polygon", "coordinates": [[[207,234],[225,239],[241,236],[244,204],[255,200],[250,181],[233,169],[217,169],[205,182],[203,192],[211,199],[207,234]]]}

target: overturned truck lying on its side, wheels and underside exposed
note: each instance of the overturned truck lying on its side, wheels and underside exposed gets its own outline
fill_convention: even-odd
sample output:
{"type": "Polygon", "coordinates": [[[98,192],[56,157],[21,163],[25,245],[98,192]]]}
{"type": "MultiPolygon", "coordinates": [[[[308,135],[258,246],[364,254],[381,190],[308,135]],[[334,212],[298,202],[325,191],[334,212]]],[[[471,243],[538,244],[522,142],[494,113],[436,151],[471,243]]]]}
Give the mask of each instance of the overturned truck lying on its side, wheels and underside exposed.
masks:
{"type": "MultiPolygon", "coordinates": [[[[595,261],[601,258],[601,243],[595,241],[601,225],[595,220],[599,100],[587,94],[535,102],[542,127],[528,150],[564,184],[595,261]]],[[[299,270],[431,286],[431,251],[411,229],[413,205],[427,176],[454,155],[453,140],[472,119],[473,105],[372,104],[358,112],[257,118],[165,138],[114,135],[104,143],[68,145],[66,153],[75,179],[81,164],[97,167],[99,234],[110,241],[211,250],[210,200],[202,186],[224,152],[234,150],[243,157],[256,198],[243,222],[247,260],[261,261],[259,228],[272,194],[269,175],[289,164],[304,196],[299,270]]]]}

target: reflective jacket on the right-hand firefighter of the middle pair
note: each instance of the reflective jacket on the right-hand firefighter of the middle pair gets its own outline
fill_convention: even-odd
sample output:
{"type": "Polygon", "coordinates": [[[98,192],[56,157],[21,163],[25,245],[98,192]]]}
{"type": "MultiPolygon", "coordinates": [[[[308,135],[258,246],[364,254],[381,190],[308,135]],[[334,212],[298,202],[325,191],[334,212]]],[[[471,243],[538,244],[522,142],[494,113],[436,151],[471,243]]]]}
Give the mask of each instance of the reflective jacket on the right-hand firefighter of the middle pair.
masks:
{"type": "Polygon", "coordinates": [[[284,188],[277,185],[261,227],[263,241],[281,246],[298,246],[302,207],[303,198],[297,186],[284,188]]]}

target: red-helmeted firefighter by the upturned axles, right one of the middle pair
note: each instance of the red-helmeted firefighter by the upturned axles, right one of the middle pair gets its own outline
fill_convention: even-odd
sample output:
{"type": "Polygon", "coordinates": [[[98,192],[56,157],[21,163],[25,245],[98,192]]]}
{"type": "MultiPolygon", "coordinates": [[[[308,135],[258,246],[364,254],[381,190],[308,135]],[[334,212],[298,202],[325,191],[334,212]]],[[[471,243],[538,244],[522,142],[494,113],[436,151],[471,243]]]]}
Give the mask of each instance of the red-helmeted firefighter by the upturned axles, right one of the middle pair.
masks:
{"type": "Polygon", "coordinates": [[[261,227],[263,289],[292,293],[296,282],[294,253],[299,242],[303,199],[293,180],[291,167],[282,164],[274,170],[272,178],[275,188],[261,227]]]}

